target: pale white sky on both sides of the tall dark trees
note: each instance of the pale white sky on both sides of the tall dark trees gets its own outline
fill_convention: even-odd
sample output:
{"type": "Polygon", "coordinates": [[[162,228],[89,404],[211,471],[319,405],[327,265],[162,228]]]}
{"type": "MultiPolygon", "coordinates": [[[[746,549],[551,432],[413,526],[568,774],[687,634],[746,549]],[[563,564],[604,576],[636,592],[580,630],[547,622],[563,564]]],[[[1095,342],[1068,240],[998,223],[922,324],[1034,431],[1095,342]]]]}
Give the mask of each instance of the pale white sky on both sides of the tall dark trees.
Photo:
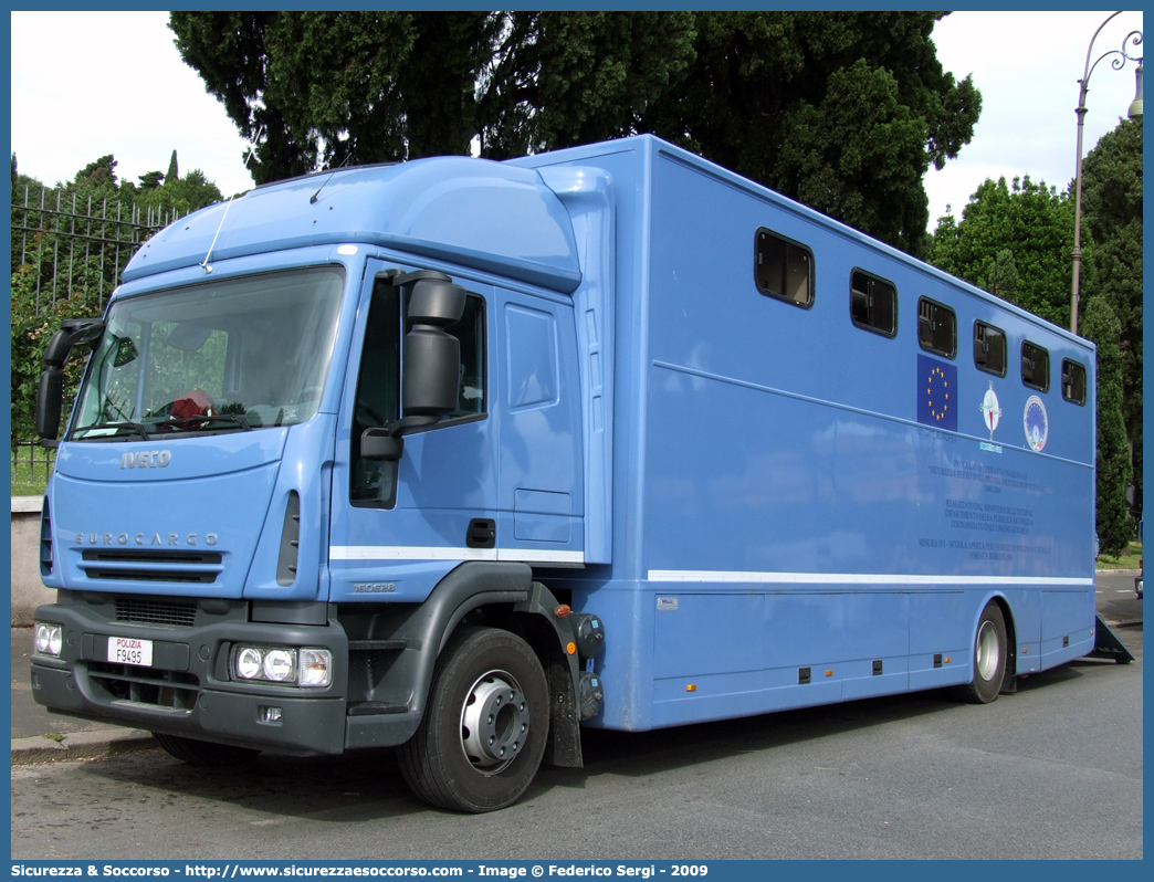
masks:
{"type": "MultiPolygon", "coordinates": [[[[1028,174],[1065,189],[1074,177],[1078,81],[1091,40],[1109,13],[956,12],[932,33],[938,59],[956,79],[973,75],[982,92],[974,137],[942,171],[930,170],[930,232],[951,207],[960,218],[987,178],[1028,174]]],[[[223,194],[253,186],[246,143],[200,76],[173,45],[167,13],[12,13],[12,150],[18,170],[48,185],[68,181],[113,154],[121,178],[200,169],[223,194]],[[73,66],[46,65],[43,47],[73,66]],[[123,51],[108,55],[108,46],[123,51]],[[130,48],[129,48],[130,47],[130,48]],[[77,82],[76,72],[82,73],[77,82]]],[[[1093,43],[1091,62],[1141,30],[1124,12],[1093,43]]],[[[1141,54],[1142,47],[1130,48],[1141,54]]],[[[1104,59],[1089,79],[1084,155],[1125,117],[1136,65],[1104,59]]]]}

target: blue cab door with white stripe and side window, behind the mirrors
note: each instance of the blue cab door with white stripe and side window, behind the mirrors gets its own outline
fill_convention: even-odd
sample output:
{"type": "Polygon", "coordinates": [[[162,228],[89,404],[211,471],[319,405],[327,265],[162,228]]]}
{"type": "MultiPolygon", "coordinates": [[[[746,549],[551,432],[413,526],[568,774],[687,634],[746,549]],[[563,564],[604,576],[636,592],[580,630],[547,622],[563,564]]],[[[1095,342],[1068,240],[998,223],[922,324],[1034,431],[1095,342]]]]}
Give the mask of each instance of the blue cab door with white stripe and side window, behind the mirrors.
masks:
{"type": "Polygon", "coordinates": [[[400,417],[405,292],[369,261],[353,329],[332,472],[330,571],[334,603],[420,601],[463,560],[495,559],[486,525],[496,523],[495,433],[488,411],[488,304],[493,289],[469,292],[462,320],[457,410],[406,434],[398,461],[362,456],[365,429],[400,417]]]}

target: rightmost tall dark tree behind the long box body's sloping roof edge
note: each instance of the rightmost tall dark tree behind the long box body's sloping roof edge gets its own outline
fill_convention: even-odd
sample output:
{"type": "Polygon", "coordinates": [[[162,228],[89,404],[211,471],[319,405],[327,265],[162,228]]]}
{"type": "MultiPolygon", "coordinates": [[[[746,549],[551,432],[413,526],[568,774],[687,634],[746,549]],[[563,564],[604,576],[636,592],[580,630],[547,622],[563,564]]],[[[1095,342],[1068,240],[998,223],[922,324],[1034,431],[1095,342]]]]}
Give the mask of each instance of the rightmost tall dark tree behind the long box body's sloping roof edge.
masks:
{"type": "Polygon", "coordinates": [[[969,142],[981,95],[943,72],[942,13],[707,13],[651,130],[921,254],[922,179],[969,142]]]}

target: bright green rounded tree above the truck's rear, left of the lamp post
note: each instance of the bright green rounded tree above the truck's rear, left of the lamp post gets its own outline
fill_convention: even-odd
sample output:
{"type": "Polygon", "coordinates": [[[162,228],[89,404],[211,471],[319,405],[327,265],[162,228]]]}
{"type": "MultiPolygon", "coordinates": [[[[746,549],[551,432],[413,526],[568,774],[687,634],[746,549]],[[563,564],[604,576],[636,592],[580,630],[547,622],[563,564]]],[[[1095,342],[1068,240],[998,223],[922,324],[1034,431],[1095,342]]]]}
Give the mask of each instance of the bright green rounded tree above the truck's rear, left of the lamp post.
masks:
{"type": "MultiPolygon", "coordinates": [[[[1003,286],[999,297],[1035,315],[1065,327],[1070,322],[1070,246],[1073,205],[1044,182],[1029,177],[987,179],[969,197],[959,223],[943,217],[934,231],[929,262],[971,284],[990,289],[999,284],[998,261],[1012,252],[1016,287],[1003,286]]],[[[1093,244],[1087,242],[1087,252],[1093,244]]]]}

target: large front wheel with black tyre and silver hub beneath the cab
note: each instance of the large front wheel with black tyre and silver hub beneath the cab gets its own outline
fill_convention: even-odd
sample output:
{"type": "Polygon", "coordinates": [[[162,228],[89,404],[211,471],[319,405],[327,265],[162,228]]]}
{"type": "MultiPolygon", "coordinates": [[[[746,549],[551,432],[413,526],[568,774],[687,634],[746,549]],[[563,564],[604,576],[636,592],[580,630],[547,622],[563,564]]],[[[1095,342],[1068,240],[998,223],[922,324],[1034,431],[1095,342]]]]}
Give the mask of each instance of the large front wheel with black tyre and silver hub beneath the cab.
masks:
{"type": "Polygon", "coordinates": [[[496,628],[463,628],[437,660],[400,771],[426,802],[492,812],[529,788],[548,733],[548,685],[529,644],[496,628]]]}

